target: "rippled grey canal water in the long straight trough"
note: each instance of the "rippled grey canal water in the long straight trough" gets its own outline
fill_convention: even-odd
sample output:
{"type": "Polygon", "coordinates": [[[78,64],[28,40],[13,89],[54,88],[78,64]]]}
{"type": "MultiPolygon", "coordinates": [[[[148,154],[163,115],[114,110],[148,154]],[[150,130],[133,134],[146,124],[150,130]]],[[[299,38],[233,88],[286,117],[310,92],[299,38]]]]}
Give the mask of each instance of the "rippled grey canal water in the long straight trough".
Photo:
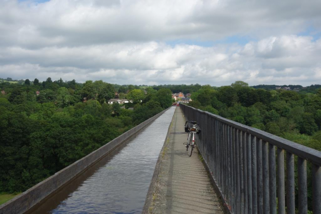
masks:
{"type": "Polygon", "coordinates": [[[29,213],[141,213],[175,107],[29,213]]]}

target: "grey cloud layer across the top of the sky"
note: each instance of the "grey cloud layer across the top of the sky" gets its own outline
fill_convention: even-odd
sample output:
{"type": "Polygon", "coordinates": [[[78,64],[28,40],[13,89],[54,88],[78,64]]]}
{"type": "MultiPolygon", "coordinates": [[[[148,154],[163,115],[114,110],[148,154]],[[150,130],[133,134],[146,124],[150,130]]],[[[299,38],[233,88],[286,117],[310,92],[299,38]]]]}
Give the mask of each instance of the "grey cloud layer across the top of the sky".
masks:
{"type": "MultiPolygon", "coordinates": [[[[114,42],[296,34],[319,28],[321,2],[65,1],[0,2],[2,46],[83,46],[114,42]],[[22,38],[25,37],[25,38],[22,38]]],[[[318,31],[320,29],[317,29],[318,31]]]]}

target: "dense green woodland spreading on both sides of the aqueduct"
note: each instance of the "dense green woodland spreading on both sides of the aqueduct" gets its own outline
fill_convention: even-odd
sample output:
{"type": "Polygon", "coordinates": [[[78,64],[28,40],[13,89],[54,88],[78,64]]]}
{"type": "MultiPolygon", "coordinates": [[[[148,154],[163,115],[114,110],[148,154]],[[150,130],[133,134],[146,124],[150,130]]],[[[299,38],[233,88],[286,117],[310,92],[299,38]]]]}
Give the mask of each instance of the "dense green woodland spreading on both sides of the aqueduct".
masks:
{"type": "MultiPolygon", "coordinates": [[[[192,94],[190,106],[321,151],[321,85],[148,87],[48,78],[2,79],[0,88],[0,192],[28,189],[171,106],[171,93],[178,92],[192,94]],[[125,109],[106,104],[115,92],[133,103],[125,109]]],[[[308,170],[310,203],[310,165],[308,170]]]]}

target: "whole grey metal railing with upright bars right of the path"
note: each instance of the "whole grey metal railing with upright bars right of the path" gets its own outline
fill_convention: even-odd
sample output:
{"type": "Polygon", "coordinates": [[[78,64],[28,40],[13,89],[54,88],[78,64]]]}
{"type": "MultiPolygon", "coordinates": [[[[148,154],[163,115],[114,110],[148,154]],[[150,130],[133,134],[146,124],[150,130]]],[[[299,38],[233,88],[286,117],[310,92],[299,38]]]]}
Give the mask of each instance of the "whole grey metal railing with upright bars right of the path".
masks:
{"type": "Polygon", "coordinates": [[[285,210],[294,214],[295,209],[307,213],[307,162],[312,165],[313,214],[321,213],[320,151],[190,106],[180,107],[187,120],[200,124],[197,146],[231,213],[276,214],[276,209],[278,214],[285,210]]]}

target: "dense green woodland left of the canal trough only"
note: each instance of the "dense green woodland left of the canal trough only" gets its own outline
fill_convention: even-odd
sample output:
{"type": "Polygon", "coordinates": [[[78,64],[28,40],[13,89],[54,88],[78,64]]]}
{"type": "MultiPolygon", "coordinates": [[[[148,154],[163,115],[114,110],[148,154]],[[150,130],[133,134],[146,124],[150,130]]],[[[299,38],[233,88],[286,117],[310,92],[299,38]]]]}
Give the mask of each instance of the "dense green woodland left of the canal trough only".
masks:
{"type": "Polygon", "coordinates": [[[109,105],[115,88],[103,81],[48,78],[3,82],[0,88],[0,192],[10,193],[30,188],[172,105],[170,89],[131,85],[123,92],[133,110],[109,105]]]}

